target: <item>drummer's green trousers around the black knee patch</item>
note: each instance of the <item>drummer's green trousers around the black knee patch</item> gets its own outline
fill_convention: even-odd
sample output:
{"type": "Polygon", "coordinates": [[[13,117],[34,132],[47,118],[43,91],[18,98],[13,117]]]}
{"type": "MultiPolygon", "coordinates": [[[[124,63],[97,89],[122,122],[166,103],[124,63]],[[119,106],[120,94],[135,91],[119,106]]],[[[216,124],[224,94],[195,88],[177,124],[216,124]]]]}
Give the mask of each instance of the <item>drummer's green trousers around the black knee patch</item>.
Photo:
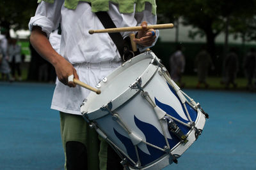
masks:
{"type": "Polygon", "coordinates": [[[60,112],[61,139],[65,152],[65,169],[67,170],[66,143],[77,141],[83,143],[87,150],[88,169],[106,170],[108,143],[79,115],[60,112]]]}

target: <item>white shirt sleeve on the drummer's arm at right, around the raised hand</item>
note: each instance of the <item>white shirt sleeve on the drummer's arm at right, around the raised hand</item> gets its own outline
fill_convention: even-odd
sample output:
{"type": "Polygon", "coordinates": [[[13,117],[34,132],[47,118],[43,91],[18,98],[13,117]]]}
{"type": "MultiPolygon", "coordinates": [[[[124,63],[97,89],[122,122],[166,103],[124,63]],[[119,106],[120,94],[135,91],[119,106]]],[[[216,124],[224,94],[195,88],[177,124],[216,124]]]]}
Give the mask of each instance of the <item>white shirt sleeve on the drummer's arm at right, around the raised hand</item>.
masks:
{"type": "MultiPolygon", "coordinates": [[[[145,3],[145,10],[142,12],[135,13],[135,18],[137,20],[137,26],[140,26],[143,21],[147,21],[148,25],[155,25],[157,22],[157,16],[152,14],[152,5],[145,3]]],[[[150,48],[156,44],[157,38],[159,37],[159,30],[156,30],[156,40],[151,46],[141,46],[137,45],[139,50],[145,51],[147,48],[150,48]]]]}

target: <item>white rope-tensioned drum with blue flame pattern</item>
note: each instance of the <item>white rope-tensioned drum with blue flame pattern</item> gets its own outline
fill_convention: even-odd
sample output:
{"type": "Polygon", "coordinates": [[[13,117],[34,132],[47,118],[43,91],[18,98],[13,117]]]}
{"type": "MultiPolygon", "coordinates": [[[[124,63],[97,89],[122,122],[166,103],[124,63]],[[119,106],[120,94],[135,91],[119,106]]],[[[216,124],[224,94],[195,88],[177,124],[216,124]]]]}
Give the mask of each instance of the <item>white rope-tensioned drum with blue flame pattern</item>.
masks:
{"type": "Polygon", "coordinates": [[[168,75],[153,52],[128,60],[96,86],[81,113],[127,169],[163,169],[201,134],[207,113],[168,75]]]}

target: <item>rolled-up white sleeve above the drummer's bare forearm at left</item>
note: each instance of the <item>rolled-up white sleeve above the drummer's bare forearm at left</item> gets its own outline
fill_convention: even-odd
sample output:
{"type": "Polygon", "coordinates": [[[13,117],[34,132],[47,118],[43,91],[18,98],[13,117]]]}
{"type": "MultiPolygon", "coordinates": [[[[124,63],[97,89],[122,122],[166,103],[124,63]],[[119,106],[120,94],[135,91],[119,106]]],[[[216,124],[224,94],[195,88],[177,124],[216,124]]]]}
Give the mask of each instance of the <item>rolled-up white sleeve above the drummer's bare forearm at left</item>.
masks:
{"type": "Polygon", "coordinates": [[[28,27],[32,31],[33,26],[42,27],[42,31],[51,34],[52,30],[57,29],[61,20],[61,7],[64,0],[54,1],[53,4],[42,1],[36,9],[35,17],[31,17],[28,27]]]}

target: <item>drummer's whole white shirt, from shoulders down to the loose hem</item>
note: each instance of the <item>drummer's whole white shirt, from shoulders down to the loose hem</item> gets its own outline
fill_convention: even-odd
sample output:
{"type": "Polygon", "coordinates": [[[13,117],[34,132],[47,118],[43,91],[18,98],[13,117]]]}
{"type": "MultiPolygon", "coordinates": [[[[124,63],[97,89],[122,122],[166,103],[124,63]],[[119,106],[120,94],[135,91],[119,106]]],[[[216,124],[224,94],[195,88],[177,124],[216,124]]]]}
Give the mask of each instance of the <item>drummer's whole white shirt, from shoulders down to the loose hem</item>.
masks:
{"type": "MultiPolygon", "coordinates": [[[[104,29],[88,3],[79,2],[76,10],[65,8],[63,3],[64,0],[54,1],[54,4],[42,1],[36,9],[35,17],[29,22],[29,30],[33,25],[38,25],[49,36],[61,22],[60,55],[74,65],[79,80],[95,87],[102,78],[120,66],[120,54],[108,33],[92,35],[88,33],[90,29],[104,29]],[[95,64],[91,66],[90,63],[95,64]]],[[[109,3],[108,14],[116,27],[136,26],[144,20],[148,25],[152,25],[156,24],[157,19],[152,15],[151,5],[148,3],[145,5],[145,11],[125,14],[119,13],[116,4],[109,3]]],[[[121,32],[121,34],[125,37],[131,32],[121,32]]],[[[159,31],[156,31],[156,35],[159,36],[159,31]]],[[[89,93],[89,90],[82,87],[70,88],[57,81],[51,108],[81,115],[79,106],[89,93]]]]}

